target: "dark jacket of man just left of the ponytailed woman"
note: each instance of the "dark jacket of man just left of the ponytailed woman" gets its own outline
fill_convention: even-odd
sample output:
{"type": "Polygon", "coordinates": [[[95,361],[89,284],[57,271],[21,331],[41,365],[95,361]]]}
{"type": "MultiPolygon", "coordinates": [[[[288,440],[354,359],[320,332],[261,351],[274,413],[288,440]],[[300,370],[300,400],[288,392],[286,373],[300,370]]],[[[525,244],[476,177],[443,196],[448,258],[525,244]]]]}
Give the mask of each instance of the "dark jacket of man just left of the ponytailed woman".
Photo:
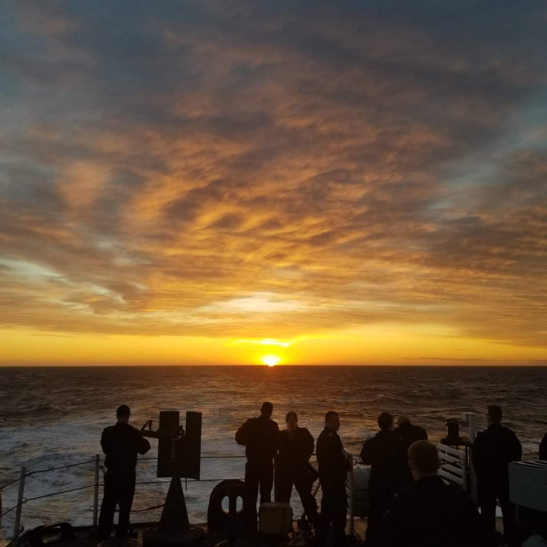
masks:
{"type": "Polygon", "coordinates": [[[277,423],[265,416],[249,418],[236,431],[236,443],[245,445],[245,455],[249,462],[271,464],[278,442],[277,423]]]}

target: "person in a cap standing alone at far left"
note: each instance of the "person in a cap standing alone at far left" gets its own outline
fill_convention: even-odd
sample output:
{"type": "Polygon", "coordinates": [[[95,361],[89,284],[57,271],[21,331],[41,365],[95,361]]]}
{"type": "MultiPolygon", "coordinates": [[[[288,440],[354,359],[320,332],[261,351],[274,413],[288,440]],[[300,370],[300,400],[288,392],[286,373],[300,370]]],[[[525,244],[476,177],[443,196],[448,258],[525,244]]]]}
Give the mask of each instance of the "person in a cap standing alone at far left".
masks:
{"type": "Polygon", "coordinates": [[[104,474],[97,543],[110,537],[116,505],[120,507],[116,537],[127,536],[129,514],[135,494],[137,453],[146,454],[150,450],[150,443],[141,432],[129,425],[130,416],[129,406],[119,406],[116,411],[118,422],[115,426],[105,428],[101,435],[101,447],[106,455],[104,464],[107,470],[104,474]]]}

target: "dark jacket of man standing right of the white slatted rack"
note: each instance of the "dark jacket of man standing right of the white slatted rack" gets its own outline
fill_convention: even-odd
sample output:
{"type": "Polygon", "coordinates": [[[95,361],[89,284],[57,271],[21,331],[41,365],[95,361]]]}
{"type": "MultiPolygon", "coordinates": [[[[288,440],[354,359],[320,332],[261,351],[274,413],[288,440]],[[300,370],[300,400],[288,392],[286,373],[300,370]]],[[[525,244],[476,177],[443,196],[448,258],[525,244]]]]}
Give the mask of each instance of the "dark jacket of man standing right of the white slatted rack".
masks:
{"type": "Polygon", "coordinates": [[[522,458],[522,446],[513,431],[492,423],[477,433],[471,455],[479,479],[507,481],[508,465],[522,458]]]}

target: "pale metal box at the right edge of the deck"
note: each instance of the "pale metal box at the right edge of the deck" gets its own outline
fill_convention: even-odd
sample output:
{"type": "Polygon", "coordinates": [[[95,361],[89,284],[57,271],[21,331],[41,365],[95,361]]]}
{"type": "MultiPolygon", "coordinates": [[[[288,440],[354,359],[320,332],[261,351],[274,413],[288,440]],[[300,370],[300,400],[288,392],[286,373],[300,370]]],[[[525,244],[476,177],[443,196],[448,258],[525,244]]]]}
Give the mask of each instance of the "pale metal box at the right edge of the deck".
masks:
{"type": "Polygon", "coordinates": [[[511,503],[537,511],[547,511],[547,462],[509,464],[511,503]]]}

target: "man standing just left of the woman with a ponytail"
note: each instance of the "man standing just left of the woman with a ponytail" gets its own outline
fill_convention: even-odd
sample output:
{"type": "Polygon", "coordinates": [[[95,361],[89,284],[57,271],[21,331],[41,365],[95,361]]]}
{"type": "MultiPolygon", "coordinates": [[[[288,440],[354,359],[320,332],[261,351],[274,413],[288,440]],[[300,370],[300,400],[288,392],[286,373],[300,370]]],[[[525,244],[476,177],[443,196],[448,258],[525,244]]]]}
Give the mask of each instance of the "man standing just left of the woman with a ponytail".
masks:
{"type": "Polygon", "coordinates": [[[271,419],[273,411],[274,405],[266,401],[260,407],[260,416],[249,418],[236,431],[236,443],[245,445],[245,484],[255,507],[258,491],[260,504],[269,503],[274,486],[274,456],[279,442],[279,428],[271,419]]]}

